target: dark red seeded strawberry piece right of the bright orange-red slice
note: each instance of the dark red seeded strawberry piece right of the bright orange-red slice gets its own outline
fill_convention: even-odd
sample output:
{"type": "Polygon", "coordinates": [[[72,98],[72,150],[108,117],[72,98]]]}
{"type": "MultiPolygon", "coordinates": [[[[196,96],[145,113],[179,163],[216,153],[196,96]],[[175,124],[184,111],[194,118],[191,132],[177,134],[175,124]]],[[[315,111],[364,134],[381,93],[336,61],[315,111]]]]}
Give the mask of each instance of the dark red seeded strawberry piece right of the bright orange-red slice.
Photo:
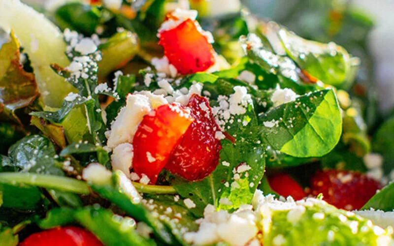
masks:
{"type": "Polygon", "coordinates": [[[187,107],[195,121],[183,135],[169,157],[165,169],[189,180],[201,180],[215,170],[219,163],[220,131],[205,97],[193,94],[187,107]]]}

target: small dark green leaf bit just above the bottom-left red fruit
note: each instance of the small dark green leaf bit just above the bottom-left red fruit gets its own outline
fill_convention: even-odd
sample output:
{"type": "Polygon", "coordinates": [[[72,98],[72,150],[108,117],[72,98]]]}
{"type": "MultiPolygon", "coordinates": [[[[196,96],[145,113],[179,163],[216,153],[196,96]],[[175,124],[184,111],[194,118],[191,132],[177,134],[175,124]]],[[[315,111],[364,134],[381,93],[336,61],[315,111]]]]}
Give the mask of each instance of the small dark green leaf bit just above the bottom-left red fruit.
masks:
{"type": "Polygon", "coordinates": [[[47,230],[74,222],[75,210],[71,208],[54,208],[47,212],[46,217],[37,222],[41,229],[47,230]]]}

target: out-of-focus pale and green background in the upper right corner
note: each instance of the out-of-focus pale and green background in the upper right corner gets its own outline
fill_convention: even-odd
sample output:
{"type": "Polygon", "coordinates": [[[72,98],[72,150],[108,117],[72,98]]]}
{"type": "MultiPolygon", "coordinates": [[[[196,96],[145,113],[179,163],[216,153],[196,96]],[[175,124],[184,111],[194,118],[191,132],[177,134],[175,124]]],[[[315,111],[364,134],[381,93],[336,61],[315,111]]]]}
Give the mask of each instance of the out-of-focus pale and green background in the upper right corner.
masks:
{"type": "Polygon", "coordinates": [[[372,72],[368,75],[364,69],[360,76],[376,82],[379,109],[385,115],[391,112],[394,106],[393,0],[244,0],[243,3],[260,17],[285,25],[300,36],[323,42],[333,40],[359,56],[363,68],[371,66],[372,72]]]}

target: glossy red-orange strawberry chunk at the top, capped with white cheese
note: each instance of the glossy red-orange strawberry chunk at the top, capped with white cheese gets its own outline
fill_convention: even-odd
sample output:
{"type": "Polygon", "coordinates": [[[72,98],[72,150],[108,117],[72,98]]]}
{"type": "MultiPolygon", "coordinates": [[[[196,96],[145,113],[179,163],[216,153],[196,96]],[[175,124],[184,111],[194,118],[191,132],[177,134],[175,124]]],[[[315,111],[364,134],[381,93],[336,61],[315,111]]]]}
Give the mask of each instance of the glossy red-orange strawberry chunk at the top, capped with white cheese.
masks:
{"type": "Polygon", "coordinates": [[[198,31],[195,21],[187,19],[176,28],[159,34],[164,55],[178,73],[205,71],[215,63],[213,47],[207,37],[198,31]]]}

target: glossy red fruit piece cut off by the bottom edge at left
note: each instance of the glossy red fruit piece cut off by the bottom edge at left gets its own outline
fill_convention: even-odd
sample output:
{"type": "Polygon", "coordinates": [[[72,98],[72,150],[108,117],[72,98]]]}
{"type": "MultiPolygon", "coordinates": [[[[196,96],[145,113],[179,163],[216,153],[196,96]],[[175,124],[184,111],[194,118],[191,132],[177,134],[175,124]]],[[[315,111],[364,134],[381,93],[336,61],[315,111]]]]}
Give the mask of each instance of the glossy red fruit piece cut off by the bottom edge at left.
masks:
{"type": "Polygon", "coordinates": [[[19,246],[104,246],[91,232],[79,227],[66,226],[37,232],[19,246]]]}

